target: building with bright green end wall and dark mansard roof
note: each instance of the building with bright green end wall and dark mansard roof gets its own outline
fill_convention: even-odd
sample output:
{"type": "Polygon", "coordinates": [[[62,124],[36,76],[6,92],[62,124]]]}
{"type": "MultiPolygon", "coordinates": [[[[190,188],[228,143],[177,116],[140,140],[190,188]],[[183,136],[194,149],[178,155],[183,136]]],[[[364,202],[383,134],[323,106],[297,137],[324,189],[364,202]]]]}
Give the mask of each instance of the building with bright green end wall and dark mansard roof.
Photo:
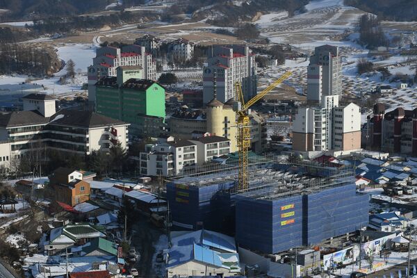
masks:
{"type": "Polygon", "coordinates": [[[106,76],[96,86],[96,111],[131,124],[131,138],[159,136],[165,130],[165,89],[139,79],[140,67],[118,67],[117,77],[106,76]]]}

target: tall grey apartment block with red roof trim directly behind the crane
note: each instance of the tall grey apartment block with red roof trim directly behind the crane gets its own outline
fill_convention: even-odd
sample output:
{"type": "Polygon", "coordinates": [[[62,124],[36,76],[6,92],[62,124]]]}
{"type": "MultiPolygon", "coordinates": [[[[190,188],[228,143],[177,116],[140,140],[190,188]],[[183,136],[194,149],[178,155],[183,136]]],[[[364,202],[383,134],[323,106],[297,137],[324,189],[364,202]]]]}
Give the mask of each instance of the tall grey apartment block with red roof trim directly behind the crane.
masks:
{"type": "Polygon", "coordinates": [[[214,45],[208,53],[203,72],[203,101],[216,98],[222,103],[236,99],[235,83],[239,81],[245,100],[256,95],[255,56],[245,45],[214,45]]]}

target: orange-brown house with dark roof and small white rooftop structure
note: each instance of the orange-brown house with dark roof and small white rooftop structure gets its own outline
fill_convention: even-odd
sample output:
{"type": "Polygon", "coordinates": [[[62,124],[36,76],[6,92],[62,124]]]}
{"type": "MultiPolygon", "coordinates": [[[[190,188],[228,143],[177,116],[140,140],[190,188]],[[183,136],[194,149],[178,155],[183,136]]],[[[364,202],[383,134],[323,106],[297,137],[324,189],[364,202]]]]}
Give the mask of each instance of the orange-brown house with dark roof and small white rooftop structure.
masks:
{"type": "Polygon", "coordinates": [[[83,174],[59,167],[49,177],[49,195],[56,201],[75,206],[90,199],[90,183],[83,181],[83,174]]]}

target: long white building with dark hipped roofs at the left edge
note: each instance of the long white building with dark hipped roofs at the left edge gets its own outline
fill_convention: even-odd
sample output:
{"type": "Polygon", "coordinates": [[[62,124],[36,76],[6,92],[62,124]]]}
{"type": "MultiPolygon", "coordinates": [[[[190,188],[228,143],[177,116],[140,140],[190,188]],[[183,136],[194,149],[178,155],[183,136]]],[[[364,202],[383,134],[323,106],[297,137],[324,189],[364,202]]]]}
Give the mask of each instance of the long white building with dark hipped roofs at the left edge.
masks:
{"type": "Polygon", "coordinates": [[[81,155],[108,151],[118,142],[128,148],[129,124],[92,111],[56,112],[52,100],[46,95],[31,94],[23,97],[24,108],[36,110],[0,115],[0,165],[10,167],[11,158],[46,148],[81,155]]]}

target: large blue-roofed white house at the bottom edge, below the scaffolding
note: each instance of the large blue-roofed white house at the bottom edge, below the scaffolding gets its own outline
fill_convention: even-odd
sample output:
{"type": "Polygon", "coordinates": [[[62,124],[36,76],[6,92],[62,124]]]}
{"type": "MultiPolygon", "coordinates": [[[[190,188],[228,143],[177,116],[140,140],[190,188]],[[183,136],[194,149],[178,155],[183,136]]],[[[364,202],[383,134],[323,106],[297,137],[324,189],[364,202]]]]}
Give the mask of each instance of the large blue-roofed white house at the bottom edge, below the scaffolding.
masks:
{"type": "Polygon", "coordinates": [[[167,252],[167,277],[240,275],[234,238],[208,230],[172,238],[167,252]]]}

